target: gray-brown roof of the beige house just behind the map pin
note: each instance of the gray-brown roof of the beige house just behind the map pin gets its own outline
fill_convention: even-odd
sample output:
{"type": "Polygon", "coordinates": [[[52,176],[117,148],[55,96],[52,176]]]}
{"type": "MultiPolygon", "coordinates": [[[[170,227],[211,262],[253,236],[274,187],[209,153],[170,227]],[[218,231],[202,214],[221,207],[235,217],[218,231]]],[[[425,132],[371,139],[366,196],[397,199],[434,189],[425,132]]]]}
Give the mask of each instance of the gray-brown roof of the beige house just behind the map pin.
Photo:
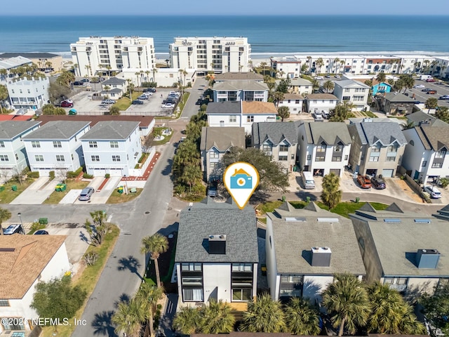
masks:
{"type": "Polygon", "coordinates": [[[201,129],[199,150],[208,151],[212,147],[216,147],[217,150],[225,152],[232,146],[245,148],[245,128],[203,126],[201,129]]]}

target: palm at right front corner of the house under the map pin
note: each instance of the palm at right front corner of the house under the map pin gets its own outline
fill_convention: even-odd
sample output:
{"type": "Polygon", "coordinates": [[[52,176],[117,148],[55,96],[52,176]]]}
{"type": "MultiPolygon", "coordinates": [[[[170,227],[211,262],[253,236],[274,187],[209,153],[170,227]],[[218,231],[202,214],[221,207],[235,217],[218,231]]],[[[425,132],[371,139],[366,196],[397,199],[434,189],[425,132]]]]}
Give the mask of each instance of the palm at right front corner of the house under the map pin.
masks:
{"type": "Polygon", "coordinates": [[[269,293],[257,296],[257,300],[248,303],[248,311],[243,312],[240,329],[248,332],[282,332],[286,331],[286,322],[282,305],[273,300],[269,293]]]}

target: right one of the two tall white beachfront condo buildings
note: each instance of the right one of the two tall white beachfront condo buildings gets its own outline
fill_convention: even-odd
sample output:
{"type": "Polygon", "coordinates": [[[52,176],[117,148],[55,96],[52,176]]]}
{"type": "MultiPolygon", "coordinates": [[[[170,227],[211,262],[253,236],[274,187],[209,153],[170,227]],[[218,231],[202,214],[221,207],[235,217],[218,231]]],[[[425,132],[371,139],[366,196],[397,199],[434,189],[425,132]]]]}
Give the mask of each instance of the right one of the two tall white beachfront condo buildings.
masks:
{"type": "Polygon", "coordinates": [[[169,48],[174,68],[218,74],[250,70],[251,46],[246,37],[176,37],[169,48]]]}

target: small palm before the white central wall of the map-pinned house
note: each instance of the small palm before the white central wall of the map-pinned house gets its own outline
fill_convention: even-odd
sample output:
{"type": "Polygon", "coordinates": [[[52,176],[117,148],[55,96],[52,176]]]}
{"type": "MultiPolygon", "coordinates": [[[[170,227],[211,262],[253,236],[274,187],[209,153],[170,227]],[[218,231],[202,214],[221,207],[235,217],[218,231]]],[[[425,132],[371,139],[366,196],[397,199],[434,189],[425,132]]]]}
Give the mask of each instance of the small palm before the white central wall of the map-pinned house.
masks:
{"type": "Polygon", "coordinates": [[[201,333],[229,333],[234,331],[236,319],[228,303],[210,300],[200,309],[201,333]]]}

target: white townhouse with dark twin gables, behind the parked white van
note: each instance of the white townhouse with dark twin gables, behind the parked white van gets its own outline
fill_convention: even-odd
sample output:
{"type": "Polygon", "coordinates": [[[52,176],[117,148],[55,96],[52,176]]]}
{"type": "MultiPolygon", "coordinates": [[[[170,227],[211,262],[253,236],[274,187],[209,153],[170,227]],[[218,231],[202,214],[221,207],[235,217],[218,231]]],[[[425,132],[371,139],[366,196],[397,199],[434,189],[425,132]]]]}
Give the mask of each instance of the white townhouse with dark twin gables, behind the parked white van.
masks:
{"type": "Polygon", "coordinates": [[[349,160],[351,136],[344,122],[304,122],[299,126],[297,163],[300,171],[316,176],[334,173],[342,177],[349,160]]]}

